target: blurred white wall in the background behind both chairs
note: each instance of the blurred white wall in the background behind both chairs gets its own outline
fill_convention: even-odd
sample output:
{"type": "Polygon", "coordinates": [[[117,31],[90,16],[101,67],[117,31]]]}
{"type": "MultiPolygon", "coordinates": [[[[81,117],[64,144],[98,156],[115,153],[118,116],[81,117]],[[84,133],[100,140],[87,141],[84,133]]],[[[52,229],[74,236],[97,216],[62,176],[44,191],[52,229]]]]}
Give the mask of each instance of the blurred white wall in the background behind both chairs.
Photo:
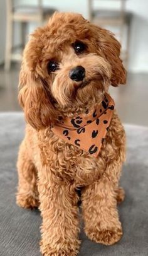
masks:
{"type": "MultiPolygon", "coordinates": [[[[16,2],[17,1],[18,3],[24,4],[36,4],[36,0],[16,0],[16,2]]],[[[4,0],[0,0],[0,3],[2,2],[4,3],[4,0]]],[[[117,1],[95,0],[96,7],[98,6],[99,2],[102,5],[107,3],[109,8],[114,7],[114,5],[117,4],[117,1]]],[[[88,18],[87,0],[43,0],[43,3],[45,6],[53,6],[59,11],[73,11],[82,13],[85,18],[88,18]]],[[[132,11],[133,13],[132,33],[130,38],[129,70],[132,72],[148,73],[148,0],[127,0],[127,10],[132,11]]],[[[3,11],[1,11],[1,13],[4,15],[3,11]]],[[[2,26],[1,22],[0,26],[2,26]]],[[[35,25],[33,24],[29,26],[29,32],[34,29],[34,26],[35,25]]]]}

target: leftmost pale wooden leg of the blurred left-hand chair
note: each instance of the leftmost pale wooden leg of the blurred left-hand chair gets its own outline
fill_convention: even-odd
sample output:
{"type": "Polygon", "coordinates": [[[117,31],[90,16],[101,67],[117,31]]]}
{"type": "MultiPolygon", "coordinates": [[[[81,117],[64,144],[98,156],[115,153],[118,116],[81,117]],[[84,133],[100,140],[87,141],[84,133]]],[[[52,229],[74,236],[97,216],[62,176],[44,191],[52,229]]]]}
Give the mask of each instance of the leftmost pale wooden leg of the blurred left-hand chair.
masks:
{"type": "Polygon", "coordinates": [[[11,66],[11,50],[13,45],[13,21],[9,18],[6,25],[6,52],[4,69],[9,71],[11,66]]]}

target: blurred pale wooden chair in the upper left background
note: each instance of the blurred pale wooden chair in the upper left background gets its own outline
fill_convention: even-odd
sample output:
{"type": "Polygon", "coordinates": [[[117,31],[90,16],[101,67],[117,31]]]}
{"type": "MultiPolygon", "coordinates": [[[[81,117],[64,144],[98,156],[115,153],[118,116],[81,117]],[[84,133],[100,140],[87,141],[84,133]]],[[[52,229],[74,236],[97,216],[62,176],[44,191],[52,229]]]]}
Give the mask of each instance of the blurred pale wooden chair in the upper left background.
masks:
{"type": "MultiPolygon", "coordinates": [[[[13,0],[6,0],[7,5],[7,18],[6,18],[6,54],[5,65],[6,71],[10,69],[11,61],[21,61],[21,52],[15,53],[13,47],[13,28],[14,22],[19,22],[21,25],[21,49],[25,44],[25,32],[26,25],[29,22],[35,21],[39,25],[42,25],[55,11],[56,9],[43,7],[42,0],[37,0],[34,6],[15,6],[13,0]]],[[[16,48],[16,47],[15,47],[16,48]]],[[[19,47],[20,48],[20,47],[19,47]]]]}

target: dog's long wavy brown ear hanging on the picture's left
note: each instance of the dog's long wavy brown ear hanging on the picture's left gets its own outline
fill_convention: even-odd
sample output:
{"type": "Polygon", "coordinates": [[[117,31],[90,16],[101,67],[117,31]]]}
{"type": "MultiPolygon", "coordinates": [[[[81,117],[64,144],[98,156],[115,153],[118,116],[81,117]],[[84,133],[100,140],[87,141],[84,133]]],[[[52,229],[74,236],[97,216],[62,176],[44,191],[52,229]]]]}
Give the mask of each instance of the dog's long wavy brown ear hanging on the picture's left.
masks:
{"type": "Polygon", "coordinates": [[[19,103],[23,107],[26,122],[34,129],[48,127],[55,118],[55,108],[40,76],[28,71],[25,61],[19,76],[19,103]]]}

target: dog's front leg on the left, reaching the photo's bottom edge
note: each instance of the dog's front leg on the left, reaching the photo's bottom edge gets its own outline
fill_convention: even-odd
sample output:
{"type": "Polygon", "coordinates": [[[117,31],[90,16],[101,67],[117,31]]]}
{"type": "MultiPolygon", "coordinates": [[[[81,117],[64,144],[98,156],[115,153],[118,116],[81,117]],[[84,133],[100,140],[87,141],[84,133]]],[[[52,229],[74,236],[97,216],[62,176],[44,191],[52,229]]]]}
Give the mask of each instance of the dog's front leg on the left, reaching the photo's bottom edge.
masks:
{"type": "Polygon", "coordinates": [[[42,170],[39,172],[38,190],[43,217],[41,253],[44,256],[77,255],[80,241],[75,188],[62,182],[55,183],[50,170],[42,170]]]}

